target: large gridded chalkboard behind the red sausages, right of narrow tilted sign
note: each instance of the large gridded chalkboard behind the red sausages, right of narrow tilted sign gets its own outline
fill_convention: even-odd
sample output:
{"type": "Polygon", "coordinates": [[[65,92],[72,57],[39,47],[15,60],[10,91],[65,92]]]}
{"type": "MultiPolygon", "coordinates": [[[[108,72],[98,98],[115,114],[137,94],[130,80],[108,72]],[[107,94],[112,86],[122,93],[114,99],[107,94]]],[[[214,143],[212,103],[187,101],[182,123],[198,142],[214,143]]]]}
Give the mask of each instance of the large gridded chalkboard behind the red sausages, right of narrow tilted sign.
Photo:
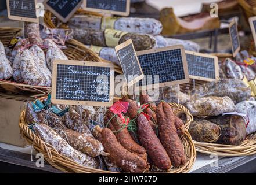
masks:
{"type": "Polygon", "coordinates": [[[189,82],[186,54],[182,45],[139,51],[137,55],[145,75],[140,87],[153,88],[147,83],[148,75],[152,75],[152,84],[159,84],[159,87],[189,82]],[[158,75],[158,83],[154,81],[155,75],[158,75]]]}

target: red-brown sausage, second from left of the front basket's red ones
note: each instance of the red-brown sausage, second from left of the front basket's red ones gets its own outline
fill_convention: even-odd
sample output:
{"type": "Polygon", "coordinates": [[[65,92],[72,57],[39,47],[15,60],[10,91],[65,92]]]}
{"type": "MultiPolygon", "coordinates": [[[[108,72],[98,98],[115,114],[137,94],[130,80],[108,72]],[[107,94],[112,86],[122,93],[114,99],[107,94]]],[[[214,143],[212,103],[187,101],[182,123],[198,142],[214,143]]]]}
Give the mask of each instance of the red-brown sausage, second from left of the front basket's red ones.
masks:
{"type": "MultiPolygon", "coordinates": [[[[109,120],[111,119],[111,117],[113,117],[113,115],[114,113],[110,111],[106,113],[106,117],[104,119],[105,124],[109,122],[109,120]]],[[[124,126],[121,124],[122,124],[121,118],[118,116],[117,117],[114,116],[113,119],[111,119],[108,125],[108,128],[110,128],[111,131],[114,132],[118,142],[120,142],[121,145],[125,147],[125,149],[137,154],[145,155],[146,150],[142,146],[139,146],[138,143],[134,141],[134,139],[132,139],[127,128],[123,128],[124,126]]]]}

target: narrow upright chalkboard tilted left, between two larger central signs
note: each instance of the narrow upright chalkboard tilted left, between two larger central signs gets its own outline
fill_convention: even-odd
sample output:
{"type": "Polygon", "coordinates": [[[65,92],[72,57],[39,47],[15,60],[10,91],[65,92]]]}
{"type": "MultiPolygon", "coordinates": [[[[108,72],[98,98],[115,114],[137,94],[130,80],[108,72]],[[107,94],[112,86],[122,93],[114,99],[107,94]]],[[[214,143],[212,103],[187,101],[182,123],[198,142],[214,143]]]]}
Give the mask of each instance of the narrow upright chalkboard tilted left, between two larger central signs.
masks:
{"type": "Polygon", "coordinates": [[[116,46],[115,49],[125,79],[127,80],[127,86],[131,87],[132,84],[139,82],[144,77],[132,40],[127,40],[121,45],[116,46]]]}

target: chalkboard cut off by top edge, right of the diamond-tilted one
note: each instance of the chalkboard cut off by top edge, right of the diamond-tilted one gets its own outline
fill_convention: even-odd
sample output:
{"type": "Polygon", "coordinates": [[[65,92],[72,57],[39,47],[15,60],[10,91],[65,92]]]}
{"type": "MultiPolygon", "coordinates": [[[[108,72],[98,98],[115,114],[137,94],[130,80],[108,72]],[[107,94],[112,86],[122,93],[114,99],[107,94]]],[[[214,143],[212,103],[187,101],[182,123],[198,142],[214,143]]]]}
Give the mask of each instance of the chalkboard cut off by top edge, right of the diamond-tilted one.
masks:
{"type": "Polygon", "coordinates": [[[84,9],[92,12],[129,16],[130,0],[84,0],[84,9]]]}

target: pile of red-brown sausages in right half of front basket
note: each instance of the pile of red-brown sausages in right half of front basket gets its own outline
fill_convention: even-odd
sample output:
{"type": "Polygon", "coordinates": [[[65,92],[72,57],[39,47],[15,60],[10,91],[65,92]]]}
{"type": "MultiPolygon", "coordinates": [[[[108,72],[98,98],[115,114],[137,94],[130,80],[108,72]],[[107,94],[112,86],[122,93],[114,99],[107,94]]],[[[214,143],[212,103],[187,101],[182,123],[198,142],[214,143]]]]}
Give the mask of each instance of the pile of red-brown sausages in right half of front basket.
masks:
{"type": "Polygon", "coordinates": [[[140,108],[130,99],[121,101],[129,102],[124,116],[135,120],[138,140],[131,136],[120,117],[108,111],[104,119],[107,128],[95,128],[96,138],[109,153],[107,158],[118,168],[131,173],[149,171],[150,166],[169,171],[172,167],[184,165],[186,155],[179,135],[183,134],[185,127],[171,106],[166,102],[156,106],[147,95],[140,95],[140,105],[144,105],[140,108]]]}

